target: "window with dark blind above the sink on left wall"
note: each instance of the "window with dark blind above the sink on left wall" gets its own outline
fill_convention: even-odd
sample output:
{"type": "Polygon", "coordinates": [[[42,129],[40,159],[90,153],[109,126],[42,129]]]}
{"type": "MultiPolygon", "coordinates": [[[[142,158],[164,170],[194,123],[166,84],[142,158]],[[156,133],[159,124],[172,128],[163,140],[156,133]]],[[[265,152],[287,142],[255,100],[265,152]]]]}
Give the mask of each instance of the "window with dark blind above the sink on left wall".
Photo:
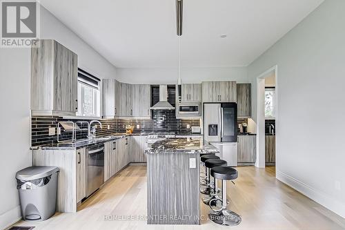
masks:
{"type": "Polygon", "coordinates": [[[99,93],[99,79],[93,76],[90,78],[90,76],[88,76],[88,73],[85,71],[78,70],[77,116],[100,117],[101,99],[99,93]]]}

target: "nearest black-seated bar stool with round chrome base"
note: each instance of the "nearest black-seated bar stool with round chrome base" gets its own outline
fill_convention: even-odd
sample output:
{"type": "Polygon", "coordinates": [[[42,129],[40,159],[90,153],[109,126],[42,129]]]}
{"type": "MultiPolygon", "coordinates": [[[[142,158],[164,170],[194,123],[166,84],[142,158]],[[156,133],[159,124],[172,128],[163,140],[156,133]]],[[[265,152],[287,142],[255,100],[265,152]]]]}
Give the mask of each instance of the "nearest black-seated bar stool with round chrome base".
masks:
{"type": "MultiPolygon", "coordinates": [[[[229,211],[226,209],[226,181],[227,180],[235,180],[238,177],[238,173],[236,169],[233,169],[229,166],[216,166],[210,170],[210,175],[213,176],[213,178],[216,178],[218,180],[221,180],[221,209],[213,209],[213,207],[210,206],[210,208],[214,212],[208,213],[208,217],[210,220],[217,224],[222,225],[228,225],[228,226],[236,226],[241,221],[242,218],[237,213],[233,211],[229,211]]],[[[217,200],[218,198],[215,198],[213,200],[217,200]]],[[[210,202],[213,202],[213,200],[210,200],[210,202]]]]}

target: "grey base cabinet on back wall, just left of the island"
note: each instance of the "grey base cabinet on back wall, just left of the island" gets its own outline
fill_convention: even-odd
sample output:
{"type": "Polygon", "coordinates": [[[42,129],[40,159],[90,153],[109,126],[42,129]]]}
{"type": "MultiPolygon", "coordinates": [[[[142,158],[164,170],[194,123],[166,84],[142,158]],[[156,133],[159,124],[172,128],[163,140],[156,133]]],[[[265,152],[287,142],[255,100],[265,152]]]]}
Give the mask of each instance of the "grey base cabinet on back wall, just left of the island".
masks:
{"type": "Polygon", "coordinates": [[[130,162],[146,162],[144,151],[148,148],[147,136],[132,136],[130,138],[130,162]]]}

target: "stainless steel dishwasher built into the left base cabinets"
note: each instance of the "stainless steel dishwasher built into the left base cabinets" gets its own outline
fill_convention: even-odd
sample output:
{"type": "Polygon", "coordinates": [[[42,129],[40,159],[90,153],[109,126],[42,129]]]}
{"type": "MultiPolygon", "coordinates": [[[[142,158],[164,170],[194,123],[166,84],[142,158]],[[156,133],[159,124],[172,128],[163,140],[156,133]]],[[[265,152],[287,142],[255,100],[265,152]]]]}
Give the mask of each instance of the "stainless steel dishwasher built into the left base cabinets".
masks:
{"type": "Polygon", "coordinates": [[[86,196],[104,184],[104,144],[86,148],[86,196]]]}

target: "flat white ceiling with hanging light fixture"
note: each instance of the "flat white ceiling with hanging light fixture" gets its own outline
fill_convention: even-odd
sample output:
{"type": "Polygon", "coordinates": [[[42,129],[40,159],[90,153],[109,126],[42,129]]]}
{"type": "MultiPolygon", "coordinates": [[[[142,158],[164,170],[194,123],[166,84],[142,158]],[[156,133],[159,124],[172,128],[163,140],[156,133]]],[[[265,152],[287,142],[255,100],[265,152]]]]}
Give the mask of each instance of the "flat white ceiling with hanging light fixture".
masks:
{"type": "MultiPolygon", "coordinates": [[[[248,66],[322,1],[184,0],[182,65],[248,66]]],[[[175,0],[41,4],[114,66],[177,66],[175,0]]]]}

